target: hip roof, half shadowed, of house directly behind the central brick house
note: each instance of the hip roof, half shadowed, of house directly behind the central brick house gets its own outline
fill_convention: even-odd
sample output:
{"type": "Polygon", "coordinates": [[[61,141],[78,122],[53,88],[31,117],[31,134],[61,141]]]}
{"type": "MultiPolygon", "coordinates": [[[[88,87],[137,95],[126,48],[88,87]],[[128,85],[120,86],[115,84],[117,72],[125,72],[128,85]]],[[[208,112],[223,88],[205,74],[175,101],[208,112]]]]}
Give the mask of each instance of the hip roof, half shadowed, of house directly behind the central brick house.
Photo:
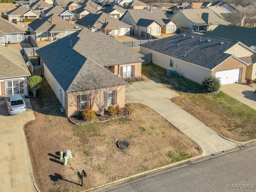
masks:
{"type": "Polygon", "coordinates": [[[102,28],[102,29],[117,29],[120,27],[130,27],[130,25],[115,19],[105,13],[98,13],[98,14],[88,14],[75,22],[75,24],[78,24],[80,26],[88,27],[90,25],[90,28],[102,28]],[[107,20],[107,23],[105,21],[107,20]],[[95,27],[93,27],[95,26],[95,27]]]}

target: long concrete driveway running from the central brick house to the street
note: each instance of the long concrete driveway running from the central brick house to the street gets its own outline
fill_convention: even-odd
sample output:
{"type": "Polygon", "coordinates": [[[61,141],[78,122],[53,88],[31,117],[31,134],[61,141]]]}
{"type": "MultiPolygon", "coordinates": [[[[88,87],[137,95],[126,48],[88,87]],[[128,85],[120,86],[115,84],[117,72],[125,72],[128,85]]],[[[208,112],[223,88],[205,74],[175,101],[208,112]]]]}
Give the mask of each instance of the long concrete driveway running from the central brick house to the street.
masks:
{"type": "Polygon", "coordinates": [[[203,150],[203,156],[214,154],[239,144],[226,140],[212,129],[194,118],[188,112],[171,102],[170,98],[178,94],[154,81],[137,82],[126,88],[126,103],[144,104],[176,128],[197,142],[203,150]]]}

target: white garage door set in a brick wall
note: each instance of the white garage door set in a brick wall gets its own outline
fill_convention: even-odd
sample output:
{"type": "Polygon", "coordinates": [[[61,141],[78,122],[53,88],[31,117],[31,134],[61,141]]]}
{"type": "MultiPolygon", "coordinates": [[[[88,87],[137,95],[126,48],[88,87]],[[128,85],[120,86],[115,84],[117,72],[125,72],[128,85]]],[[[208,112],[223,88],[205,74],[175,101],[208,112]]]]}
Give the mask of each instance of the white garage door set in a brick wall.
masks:
{"type": "Polygon", "coordinates": [[[220,77],[220,83],[222,85],[230,84],[230,83],[240,82],[240,76],[241,76],[240,71],[241,69],[218,71],[215,73],[215,76],[220,77]]]}

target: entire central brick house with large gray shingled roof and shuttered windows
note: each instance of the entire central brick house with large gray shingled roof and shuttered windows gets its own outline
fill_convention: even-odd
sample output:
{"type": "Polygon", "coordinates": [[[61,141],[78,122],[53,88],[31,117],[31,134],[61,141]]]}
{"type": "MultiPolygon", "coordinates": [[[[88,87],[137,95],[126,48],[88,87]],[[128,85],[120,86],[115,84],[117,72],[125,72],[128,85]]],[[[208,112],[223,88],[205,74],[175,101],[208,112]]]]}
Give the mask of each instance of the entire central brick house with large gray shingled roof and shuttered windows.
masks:
{"type": "Polygon", "coordinates": [[[92,97],[97,91],[108,101],[106,107],[123,108],[127,82],[122,78],[141,76],[142,54],[87,28],[36,52],[68,117],[85,108],[98,111],[92,97]]]}

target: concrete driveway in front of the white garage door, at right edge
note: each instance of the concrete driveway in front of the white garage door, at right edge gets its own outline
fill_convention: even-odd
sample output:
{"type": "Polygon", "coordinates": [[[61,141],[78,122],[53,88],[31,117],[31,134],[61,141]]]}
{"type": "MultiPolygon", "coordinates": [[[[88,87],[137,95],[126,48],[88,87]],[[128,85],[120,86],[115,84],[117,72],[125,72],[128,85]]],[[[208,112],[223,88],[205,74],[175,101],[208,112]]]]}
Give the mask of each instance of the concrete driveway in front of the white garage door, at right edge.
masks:
{"type": "Polygon", "coordinates": [[[256,84],[250,87],[246,83],[232,83],[220,87],[220,91],[256,110],[255,89],[256,84]]]}

